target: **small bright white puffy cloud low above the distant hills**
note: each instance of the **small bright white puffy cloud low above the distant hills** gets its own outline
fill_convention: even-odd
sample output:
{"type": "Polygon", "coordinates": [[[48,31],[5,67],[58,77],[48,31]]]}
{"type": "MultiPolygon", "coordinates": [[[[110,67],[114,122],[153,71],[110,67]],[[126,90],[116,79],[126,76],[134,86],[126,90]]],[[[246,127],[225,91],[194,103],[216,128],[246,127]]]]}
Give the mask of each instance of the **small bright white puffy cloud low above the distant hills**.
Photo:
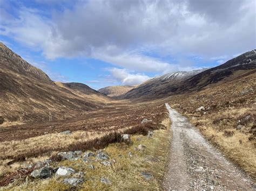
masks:
{"type": "Polygon", "coordinates": [[[110,68],[108,69],[114,79],[126,86],[134,86],[149,80],[150,77],[144,74],[132,74],[127,69],[110,68]]]}

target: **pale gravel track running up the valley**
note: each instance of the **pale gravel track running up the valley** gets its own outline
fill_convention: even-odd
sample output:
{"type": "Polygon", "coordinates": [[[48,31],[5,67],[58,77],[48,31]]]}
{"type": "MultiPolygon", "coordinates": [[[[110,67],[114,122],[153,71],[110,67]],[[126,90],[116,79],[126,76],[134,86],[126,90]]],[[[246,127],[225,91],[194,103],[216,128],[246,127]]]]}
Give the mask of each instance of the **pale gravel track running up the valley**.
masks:
{"type": "Polygon", "coordinates": [[[166,104],[172,121],[166,190],[256,190],[256,184],[215,150],[187,118],[166,104]]]}

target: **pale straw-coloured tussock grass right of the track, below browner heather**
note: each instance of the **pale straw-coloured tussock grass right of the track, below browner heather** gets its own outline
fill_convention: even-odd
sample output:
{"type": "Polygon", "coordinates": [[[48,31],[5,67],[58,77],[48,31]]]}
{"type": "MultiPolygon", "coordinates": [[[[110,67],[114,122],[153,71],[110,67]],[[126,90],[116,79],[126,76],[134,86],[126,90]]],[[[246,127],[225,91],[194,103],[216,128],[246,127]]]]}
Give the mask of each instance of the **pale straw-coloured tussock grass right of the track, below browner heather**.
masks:
{"type": "Polygon", "coordinates": [[[211,143],[220,148],[228,159],[256,180],[256,142],[249,140],[254,121],[241,122],[244,128],[236,129],[238,121],[247,115],[255,115],[254,107],[227,108],[194,118],[191,122],[211,143]]]}

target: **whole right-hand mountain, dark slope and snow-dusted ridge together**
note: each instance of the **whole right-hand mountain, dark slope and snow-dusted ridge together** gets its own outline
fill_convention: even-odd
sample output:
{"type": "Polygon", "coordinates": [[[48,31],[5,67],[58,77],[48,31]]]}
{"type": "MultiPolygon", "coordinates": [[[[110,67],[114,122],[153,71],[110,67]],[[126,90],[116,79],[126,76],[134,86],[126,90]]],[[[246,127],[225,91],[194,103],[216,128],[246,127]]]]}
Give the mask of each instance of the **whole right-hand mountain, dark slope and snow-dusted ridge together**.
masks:
{"type": "Polygon", "coordinates": [[[217,83],[232,80],[255,68],[256,49],[241,54],[214,68],[170,73],[154,77],[120,96],[120,98],[154,99],[198,91],[210,86],[214,87],[217,83]]]}

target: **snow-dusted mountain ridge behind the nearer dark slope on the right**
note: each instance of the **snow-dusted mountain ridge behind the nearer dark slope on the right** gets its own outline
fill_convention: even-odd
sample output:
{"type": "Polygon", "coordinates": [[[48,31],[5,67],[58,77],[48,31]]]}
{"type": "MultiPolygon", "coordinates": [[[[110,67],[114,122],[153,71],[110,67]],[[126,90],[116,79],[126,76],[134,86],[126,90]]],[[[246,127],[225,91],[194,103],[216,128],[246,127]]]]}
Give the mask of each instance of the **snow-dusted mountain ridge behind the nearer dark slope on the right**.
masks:
{"type": "Polygon", "coordinates": [[[128,91],[126,94],[119,96],[120,98],[139,98],[148,97],[152,98],[169,93],[168,88],[174,84],[179,84],[181,81],[186,80],[206,69],[192,70],[189,72],[181,71],[168,73],[162,76],[153,77],[146,82],[140,84],[138,87],[128,91]]]}

